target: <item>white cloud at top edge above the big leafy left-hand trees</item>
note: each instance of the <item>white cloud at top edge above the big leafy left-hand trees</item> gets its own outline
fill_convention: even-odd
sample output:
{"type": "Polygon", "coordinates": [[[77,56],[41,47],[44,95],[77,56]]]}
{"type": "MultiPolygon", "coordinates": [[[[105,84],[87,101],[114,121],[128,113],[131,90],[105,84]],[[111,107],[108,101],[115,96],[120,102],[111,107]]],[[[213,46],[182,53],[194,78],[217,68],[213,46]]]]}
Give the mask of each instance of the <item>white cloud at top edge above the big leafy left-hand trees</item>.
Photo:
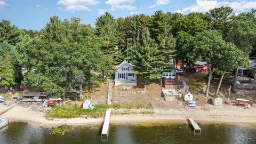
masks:
{"type": "Polygon", "coordinates": [[[65,5],[67,11],[91,11],[87,5],[99,4],[94,0],[60,0],[59,5],[65,5]]]}

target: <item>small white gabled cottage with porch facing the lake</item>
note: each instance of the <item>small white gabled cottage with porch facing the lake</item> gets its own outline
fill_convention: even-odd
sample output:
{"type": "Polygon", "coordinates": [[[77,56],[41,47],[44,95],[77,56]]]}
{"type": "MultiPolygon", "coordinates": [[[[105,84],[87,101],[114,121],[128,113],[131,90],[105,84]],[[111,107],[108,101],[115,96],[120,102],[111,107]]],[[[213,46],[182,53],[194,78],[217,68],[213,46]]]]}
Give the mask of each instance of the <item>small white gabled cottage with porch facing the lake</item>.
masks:
{"type": "Polygon", "coordinates": [[[115,85],[137,85],[137,76],[133,74],[131,63],[126,60],[116,68],[115,85]]]}

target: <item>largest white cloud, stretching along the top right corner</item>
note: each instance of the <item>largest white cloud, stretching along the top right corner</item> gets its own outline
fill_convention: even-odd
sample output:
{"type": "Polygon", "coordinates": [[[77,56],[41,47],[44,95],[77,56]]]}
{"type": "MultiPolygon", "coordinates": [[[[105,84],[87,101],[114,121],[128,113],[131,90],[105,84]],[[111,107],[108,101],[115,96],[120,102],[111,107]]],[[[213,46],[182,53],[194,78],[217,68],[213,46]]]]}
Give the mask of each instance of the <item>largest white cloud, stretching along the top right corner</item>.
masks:
{"type": "Polygon", "coordinates": [[[186,7],[182,10],[177,10],[175,12],[179,13],[185,13],[185,12],[208,12],[215,7],[221,7],[221,6],[229,6],[235,11],[244,11],[248,9],[255,9],[256,8],[256,1],[237,1],[237,2],[227,2],[227,1],[221,1],[218,2],[216,0],[196,0],[196,5],[191,5],[186,7]]]}

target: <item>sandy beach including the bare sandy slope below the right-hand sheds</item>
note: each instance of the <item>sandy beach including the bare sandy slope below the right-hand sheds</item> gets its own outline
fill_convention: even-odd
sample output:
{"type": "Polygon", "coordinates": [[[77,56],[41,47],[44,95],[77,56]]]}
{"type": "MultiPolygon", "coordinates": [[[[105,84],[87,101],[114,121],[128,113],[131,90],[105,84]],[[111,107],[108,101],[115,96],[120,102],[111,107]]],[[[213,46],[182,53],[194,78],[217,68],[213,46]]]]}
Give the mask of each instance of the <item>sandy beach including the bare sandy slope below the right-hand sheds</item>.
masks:
{"type": "MultiPolygon", "coordinates": [[[[153,101],[153,115],[111,115],[110,123],[148,123],[148,122],[186,122],[187,117],[192,117],[200,123],[235,123],[256,124],[256,107],[244,109],[243,107],[223,105],[215,107],[206,105],[194,108],[179,106],[177,103],[165,101],[153,101]]],[[[0,109],[4,107],[1,105],[0,109]]],[[[12,119],[12,121],[28,122],[41,126],[59,125],[93,125],[101,124],[101,118],[45,118],[44,115],[49,108],[39,106],[17,105],[2,114],[1,118],[12,119]]],[[[138,109],[134,109],[136,111],[138,109]]],[[[115,113],[115,109],[112,110],[115,113]]]]}

